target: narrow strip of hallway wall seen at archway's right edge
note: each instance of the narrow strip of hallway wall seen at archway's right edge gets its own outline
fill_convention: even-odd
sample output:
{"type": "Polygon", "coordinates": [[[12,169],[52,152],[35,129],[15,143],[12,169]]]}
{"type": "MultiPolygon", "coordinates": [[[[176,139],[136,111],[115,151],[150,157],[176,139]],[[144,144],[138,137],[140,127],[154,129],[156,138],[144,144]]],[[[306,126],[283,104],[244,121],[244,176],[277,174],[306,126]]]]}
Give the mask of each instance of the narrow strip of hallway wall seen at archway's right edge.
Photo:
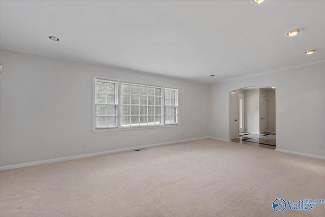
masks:
{"type": "Polygon", "coordinates": [[[267,126],[266,129],[268,132],[275,131],[275,89],[267,90],[267,126]]]}

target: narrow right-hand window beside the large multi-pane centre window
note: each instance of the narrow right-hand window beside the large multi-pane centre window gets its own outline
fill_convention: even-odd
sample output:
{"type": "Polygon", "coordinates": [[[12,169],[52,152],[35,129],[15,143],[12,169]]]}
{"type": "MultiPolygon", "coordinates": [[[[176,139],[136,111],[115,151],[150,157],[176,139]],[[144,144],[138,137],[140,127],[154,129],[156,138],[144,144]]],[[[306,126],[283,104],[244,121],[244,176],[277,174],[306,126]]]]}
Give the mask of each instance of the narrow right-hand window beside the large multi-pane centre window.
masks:
{"type": "Polygon", "coordinates": [[[178,124],[178,89],[165,88],[165,124],[178,124]]]}

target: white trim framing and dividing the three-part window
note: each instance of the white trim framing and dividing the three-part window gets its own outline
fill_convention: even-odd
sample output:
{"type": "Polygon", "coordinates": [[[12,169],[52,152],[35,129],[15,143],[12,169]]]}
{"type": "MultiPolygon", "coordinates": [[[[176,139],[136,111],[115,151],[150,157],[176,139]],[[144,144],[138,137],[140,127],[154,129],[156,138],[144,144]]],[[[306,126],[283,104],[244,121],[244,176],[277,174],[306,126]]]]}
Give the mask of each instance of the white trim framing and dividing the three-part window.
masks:
{"type": "Polygon", "coordinates": [[[130,81],[130,80],[120,80],[120,79],[114,79],[114,78],[108,78],[108,77],[103,77],[103,76],[92,76],[92,132],[112,132],[112,131],[120,131],[120,130],[136,130],[136,129],[152,129],[152,128],[166,128],[166,127],[179,127],[180,126],[180,97],[179,97],[179,92],[180,89],[178,87],[173,87],[169,85],[159,85],[159,84],[152,84],[152,83],[139,83],[137,81],[130,81]],[[117,127],[112,127],[112,128],[101,128],[101,129],[96,129],[96,104],[95,104],[95,93],[96,93],[96,79],[100,80],[107,80],[111,82],[115,82],[117,85],[116,91],[117,91],[117,109],[116,109],[116,125],[117,127]],[[159,125],[139,125],[139,126],[121,126],[121,83],[132,83],[132,84],[137,84],[137,85],[146,85],[146,86],[156,86],[156,87],[161,87],[161,107],[162,107],[162,120],[159,125]],[[178,90],[178,123],[176,124],[165,124],[165,88],[172,88],[172,89],[177,89],[178,90]]]}

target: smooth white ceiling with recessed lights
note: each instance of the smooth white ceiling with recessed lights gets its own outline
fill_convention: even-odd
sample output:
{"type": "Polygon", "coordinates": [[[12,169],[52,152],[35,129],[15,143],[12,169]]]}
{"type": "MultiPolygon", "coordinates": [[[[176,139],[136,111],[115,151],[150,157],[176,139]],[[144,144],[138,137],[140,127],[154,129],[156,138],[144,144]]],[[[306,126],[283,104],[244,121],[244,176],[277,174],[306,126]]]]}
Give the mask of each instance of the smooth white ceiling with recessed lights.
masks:
{"type": "Polygon", "coordinates": [[[1,1],[0,8],[3,49],[202,83],[325,60],[325,1],[1,1]],[[301,32],[287,37],[295,28],[301,32]]]}

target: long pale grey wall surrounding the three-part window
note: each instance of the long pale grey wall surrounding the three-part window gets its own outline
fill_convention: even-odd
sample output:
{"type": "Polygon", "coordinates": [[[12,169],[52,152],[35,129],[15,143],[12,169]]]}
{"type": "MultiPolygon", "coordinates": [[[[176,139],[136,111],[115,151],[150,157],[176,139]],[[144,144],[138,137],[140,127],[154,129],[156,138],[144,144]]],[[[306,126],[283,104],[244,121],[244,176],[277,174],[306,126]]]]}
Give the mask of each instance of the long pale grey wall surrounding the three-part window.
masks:
{"type": "Polygon", "coordinates": [[[0,63],[1,166],[208,135],[208,85],[8,50],[0,63]],[[93,75],[179,87],[180,126],[93,133],[93,75]]]}

